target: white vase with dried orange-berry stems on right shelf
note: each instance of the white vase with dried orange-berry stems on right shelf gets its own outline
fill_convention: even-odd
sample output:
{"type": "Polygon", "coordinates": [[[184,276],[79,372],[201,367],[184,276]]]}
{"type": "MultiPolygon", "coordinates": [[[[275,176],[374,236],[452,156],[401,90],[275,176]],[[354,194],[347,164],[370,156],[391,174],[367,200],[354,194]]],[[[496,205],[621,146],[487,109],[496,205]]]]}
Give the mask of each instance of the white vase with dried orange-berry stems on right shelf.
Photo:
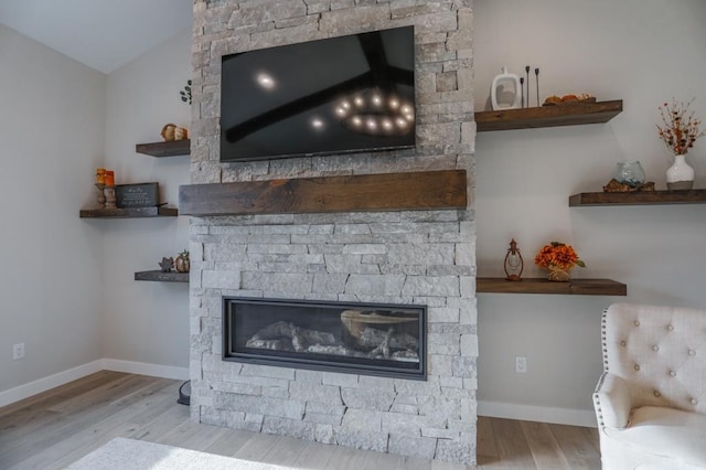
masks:
{"type": "Polygon", "coordinates": [[[674,164],[666,171],[668,190],[691,190],[694,184],[694,169],[686,162],[686,153],[705,132],[699,131],[700,120],[688,110],[692,102],[685,105],[672,100],[672,105],[665,103],[659,108],[662,126],[657,125],[657,136],[674,154],[674,164]]]}

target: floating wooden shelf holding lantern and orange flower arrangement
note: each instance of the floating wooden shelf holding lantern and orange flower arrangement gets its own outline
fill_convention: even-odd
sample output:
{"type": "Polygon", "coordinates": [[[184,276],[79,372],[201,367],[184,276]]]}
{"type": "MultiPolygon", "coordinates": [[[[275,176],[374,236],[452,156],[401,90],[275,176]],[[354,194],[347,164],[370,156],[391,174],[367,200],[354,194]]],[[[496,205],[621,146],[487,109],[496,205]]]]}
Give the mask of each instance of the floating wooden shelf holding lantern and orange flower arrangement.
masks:
{"type": "Polygon", "coordinates": [[[477,292],[492,293],[560,293],[571,296],[627,296],[628,286],[611,279],[571,279],[553,282],[545,278],[523,278],[518,282],[502,277],[479,277],[477,292]]]}

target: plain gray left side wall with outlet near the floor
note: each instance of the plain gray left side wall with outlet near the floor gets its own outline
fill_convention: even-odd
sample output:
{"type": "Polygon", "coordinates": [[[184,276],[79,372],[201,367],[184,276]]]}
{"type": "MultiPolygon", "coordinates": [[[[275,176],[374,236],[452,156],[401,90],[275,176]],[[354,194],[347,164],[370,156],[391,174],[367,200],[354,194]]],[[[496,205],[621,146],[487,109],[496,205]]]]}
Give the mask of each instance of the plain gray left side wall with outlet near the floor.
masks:
{"type": "Polygon", "coordinates": [[[100,359],[105,76],[0,24],[0,392],[100,359]],[[25,357],[12,361],[12,345],[25,357]]]}

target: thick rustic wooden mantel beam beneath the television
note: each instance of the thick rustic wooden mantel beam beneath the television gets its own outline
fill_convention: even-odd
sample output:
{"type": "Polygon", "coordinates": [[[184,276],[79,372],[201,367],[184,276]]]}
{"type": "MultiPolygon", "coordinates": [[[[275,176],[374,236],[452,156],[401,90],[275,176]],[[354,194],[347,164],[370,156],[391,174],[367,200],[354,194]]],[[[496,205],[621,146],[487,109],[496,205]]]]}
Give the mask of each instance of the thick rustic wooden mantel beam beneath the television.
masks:
{"type": "Polygon", "coordinates": [[[182,214],[466,209],[466,170],[299,178],[179,186],[182,214]]]}

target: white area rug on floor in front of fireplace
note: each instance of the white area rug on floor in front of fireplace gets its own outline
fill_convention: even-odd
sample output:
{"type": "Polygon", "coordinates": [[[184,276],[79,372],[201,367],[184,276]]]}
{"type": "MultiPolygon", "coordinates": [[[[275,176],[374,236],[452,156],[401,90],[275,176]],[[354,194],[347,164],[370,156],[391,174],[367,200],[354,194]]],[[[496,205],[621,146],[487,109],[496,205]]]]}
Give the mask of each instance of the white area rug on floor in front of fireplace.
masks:
{"type": "Polygon", "coordinates": [[[161,444],[117,437],[81,460],[69,470],[285,470],[269,463],[180,449],[161,444]]]}

